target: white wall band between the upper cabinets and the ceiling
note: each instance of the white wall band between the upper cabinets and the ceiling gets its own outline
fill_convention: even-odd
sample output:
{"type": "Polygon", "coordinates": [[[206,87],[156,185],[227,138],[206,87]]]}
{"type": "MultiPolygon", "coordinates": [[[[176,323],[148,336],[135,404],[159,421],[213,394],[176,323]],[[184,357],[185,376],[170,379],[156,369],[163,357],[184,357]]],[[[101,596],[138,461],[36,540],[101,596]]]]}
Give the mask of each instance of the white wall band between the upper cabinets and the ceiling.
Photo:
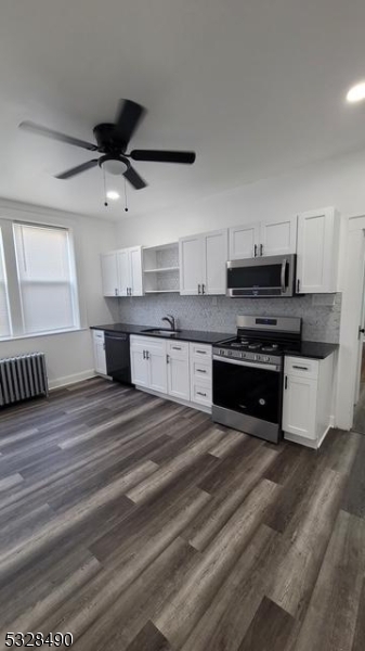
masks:
{"type": "Polygon", "coordinates": [[[365,213],[365,151],[314,163],[193,204],[140,217],[130,213],[118,227],[119,245],[173,242],[185,234],[327,205],[346,215],[365,213]]]}

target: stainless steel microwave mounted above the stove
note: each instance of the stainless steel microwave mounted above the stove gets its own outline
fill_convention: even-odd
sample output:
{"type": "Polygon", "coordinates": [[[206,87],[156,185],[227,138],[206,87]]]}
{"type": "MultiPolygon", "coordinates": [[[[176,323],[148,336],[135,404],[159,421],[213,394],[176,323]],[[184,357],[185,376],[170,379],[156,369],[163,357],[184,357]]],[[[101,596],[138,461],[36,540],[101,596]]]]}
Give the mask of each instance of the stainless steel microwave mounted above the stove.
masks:
{"type": "Polygon", "coordinates": [[[226,295],[233,298],[294,296],[296,258],[295,254],[290,254],[227,263],[226,295]]]}

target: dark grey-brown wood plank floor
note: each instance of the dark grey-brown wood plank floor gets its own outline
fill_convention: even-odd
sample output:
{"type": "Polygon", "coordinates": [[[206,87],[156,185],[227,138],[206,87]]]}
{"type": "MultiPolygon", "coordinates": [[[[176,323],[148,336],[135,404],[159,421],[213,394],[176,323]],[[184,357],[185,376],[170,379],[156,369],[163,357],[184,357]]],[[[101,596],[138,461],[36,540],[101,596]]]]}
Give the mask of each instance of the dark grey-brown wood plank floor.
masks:
{"type": "Polygon", "coordinates": [[[0,649],[365,649],[365,436],[276,447],[101,379],[0,419],[0,649]]]}

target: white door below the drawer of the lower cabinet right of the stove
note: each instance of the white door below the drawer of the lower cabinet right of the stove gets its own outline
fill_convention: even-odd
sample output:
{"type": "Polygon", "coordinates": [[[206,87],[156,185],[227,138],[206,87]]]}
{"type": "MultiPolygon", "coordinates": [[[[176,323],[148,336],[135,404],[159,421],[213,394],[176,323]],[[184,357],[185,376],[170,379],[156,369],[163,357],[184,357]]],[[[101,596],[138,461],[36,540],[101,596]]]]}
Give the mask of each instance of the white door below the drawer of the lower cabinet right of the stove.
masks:
{"type": "Polygon", "coordinates": [[[317,380],[285,375],[283,397],[283,430],[291,434],[316,438],[317,380]]]}

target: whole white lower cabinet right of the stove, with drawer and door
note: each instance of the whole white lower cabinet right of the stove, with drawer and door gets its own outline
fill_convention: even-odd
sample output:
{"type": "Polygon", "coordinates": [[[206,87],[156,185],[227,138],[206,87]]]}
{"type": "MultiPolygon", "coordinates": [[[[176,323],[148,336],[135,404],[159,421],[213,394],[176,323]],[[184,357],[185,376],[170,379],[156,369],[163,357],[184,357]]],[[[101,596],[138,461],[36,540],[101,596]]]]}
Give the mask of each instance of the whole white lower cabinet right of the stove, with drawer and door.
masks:
{"type": "Polygon", "coordinates": [[[286,357],[284,437],[318,448],[331,425],[334,355],[325,359],[286,357]]]}

